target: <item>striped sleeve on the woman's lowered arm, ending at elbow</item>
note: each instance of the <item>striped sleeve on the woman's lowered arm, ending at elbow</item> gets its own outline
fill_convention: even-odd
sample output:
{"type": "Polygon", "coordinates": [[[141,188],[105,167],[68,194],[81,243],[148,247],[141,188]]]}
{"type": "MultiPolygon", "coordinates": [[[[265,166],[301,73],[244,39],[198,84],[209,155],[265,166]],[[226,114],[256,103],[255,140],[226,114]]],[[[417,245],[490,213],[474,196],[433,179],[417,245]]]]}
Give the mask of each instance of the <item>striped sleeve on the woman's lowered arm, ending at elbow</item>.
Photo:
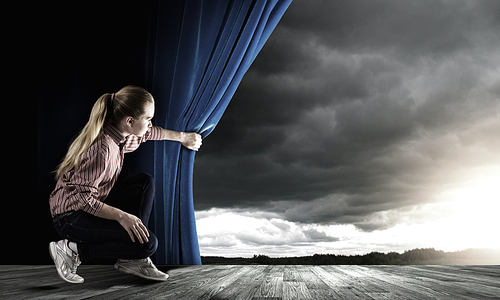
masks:
{"type": "Polygon", "coordinates": [[[78,172],[66,183],[69,199],[75,210],[83,210],[92,215],[101,211],[103,203],[99,201],[99,184],[106,171],[106,153],[89,151],[82,159],[78,172]],[[72,199],[71,199],[72,198],[72,199]]]}

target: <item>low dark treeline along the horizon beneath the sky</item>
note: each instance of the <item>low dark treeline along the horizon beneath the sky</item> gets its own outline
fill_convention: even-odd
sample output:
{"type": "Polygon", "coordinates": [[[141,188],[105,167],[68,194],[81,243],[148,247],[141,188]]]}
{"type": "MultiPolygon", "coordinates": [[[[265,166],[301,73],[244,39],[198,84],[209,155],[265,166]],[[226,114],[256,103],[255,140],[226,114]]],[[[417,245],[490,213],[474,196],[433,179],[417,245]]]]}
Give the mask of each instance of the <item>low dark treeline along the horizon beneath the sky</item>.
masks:
{"type": "Polygon", "coordinates": [[[500,249],[467,249],[444,252],[434,248],[365,255],[314,254],[300,257],[226,258],[202,256],[204,265],[500,265],[500,249]]]}

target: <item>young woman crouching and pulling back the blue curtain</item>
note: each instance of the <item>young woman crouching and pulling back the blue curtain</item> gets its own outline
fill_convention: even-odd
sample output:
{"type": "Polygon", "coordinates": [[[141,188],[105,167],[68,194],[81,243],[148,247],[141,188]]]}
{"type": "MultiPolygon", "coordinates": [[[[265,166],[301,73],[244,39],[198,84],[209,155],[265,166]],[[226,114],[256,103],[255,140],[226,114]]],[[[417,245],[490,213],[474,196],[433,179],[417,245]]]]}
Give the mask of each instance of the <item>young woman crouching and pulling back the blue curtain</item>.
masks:
{"type": "Polygon", "coordinates": [[[178,141],[190,150],[201,146],[197,133],[152,126],[154,100],[140,87],[126,86],[102,95],[90,119],[56,171],[50,211],[63,240],[49,245],[59,277],[82,283],[81,261],[116,258],[115,268],[150,280],[164,281],[149,258],[156,236],[146,227],[153,205],[153,179],[146,173],[117,182],[123,155],[147,140],[178,141]]]}

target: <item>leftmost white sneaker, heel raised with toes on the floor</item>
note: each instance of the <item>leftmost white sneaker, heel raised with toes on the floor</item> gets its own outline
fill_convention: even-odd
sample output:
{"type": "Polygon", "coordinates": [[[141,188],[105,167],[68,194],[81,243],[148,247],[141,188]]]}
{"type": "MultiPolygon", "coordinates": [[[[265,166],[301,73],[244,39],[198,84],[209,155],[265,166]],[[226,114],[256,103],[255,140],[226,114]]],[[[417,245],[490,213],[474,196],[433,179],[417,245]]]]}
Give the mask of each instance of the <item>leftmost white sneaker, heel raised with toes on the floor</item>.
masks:
{"type": "Polygon", "coordinates": [[[76,274],[76,268],[81,264],[80,257],[68,247],[68,240],[51,242],[50,257],[56,265],[57,274],[69,283],[83,283],[83,278],[76,274]]]}

